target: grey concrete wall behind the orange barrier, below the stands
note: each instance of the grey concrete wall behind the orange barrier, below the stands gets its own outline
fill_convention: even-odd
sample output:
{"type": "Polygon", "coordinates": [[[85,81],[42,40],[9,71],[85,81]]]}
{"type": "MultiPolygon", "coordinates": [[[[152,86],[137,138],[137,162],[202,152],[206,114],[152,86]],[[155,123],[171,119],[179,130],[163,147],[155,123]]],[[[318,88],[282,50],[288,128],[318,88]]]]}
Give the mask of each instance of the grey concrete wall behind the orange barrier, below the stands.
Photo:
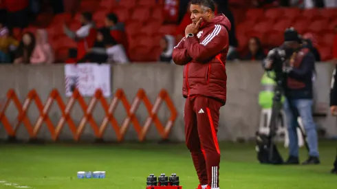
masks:
{"type": "MultiPolygon", "coordinates": [[[[328,63],[317,63],[318,79],[315,82],[316,93],[316,112],[328,113],[329,109],[329,85],[333,66],[328,63]]],[[[225,107],[221,108],[221,117],[219,122],[219,140],[237,140],[238,137],[250,139],[254,137],[255,131],[259,127],[259,115],[261,109],[258,105],[258,94],[260,79],[263,69],[259,63],[227,63],[228,74],[228,101],[225,107]]],[[[166,89],[175,103],[179,116],[171,132],[170,139],[184,141],[184,121],[182,118],[184,110],[184,98],[182,98],[182,67],[166,64],[133,64],[133,65],[113,65],[111,67],[111,89],[113,92],[122,88],[127,94],[127,98],[132,102],[139,88],[145,89],[151,102],[154,102],[160,89],[166,89]]],[[[14,89],[21,100],[26,98],[28,91],[36,89],[43,103],[47,99],[50,91],[54,88],[65,98],[65,76],[64,65],[0,65],[0,99],[6,97],[8,89],[14,89]]],[[[89,99],[86,99],[89,102],[89,99]]],[[[57,104],[54,103],[50,113],[50,118],[54,124],[61,117],[57,104]]],[[[76,104],[72,113],[75,124],[79,124],[83,111],[76,104]]],[[[94,118],[98,124],[102,122],[104,111],[98,105],[94,111],[94,118]]],[[[137,117],[141,124],[144,124],[147,118],[147,111],[143,104],[137,111],[137,117]]],[[[10,104],[6,111],[6,116],[11,123],[17,120],[17,109],[10,104]]],[[[39,111],[35,104],[32,104],[28,111],[28,116],[32,124],[39,117],[39,111]]],[[[118,106],[115,117],[119,123],[122,123],[126,117],[122,104],[118,106]]],[[[159,118],[162,122],[169,117],[169,111],[162,107],[159,118]]],[[[317,118],[319,126],[327,131],[328,136],[336,136],[336,119],[331,116],[317,118]]],[[[28,133],[23,124],[17,135],[20,139],[28,139],[28,133]]],[[[6,131],[0,124],[0,138],[6,137],[6,131]]],[[[47,126],[43,125],[39,137],[50,140],[50,134],[47,126]]],[[[108,127],[105,133],[105,140],[116,140],[113,129],[108,127]]],[[[149,131],[147,140],[159,140],[155,126],[149,131]]],[[[61,133],[60,140],[72,140],[67,125],[61,133]]],[[[91,127],[87,124],[81,140],[94,140],[94,134],[91,127]]],[[[138,140],[132,124],[127,132],[125,140],[138,140]]]]}

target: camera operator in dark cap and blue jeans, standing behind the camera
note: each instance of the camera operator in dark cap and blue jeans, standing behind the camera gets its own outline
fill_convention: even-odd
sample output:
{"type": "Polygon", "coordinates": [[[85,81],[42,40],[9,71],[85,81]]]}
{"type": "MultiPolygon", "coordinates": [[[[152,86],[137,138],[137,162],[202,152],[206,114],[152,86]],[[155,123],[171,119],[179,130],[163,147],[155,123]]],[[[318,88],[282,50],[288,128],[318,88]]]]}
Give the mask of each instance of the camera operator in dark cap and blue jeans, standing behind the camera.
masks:
{"type": "Polygon", "coordinates": [[[283,111],[285,111],[287,117],[289,136],[289,157],[285,164],[299,164],[296,131],[298,116],[302,119],[309,145],[309,158],[303,164],[320,164],[316,126],[312,117],[312,78],[315,70],[315,57],[307,47],[301,45],[301,37],[293,27],[285,30],[284,38],[283,45],[272,49],[263,65],[266,70],[276,69],[274,56],[279,54],[279,57],[281,57],[281,66],[279,67],[282,67],[280,72],[283,76],[282,86],[286,98],[283,103],[283,111]],[[280,55],[282,52],[284,56],[280,55]]]}

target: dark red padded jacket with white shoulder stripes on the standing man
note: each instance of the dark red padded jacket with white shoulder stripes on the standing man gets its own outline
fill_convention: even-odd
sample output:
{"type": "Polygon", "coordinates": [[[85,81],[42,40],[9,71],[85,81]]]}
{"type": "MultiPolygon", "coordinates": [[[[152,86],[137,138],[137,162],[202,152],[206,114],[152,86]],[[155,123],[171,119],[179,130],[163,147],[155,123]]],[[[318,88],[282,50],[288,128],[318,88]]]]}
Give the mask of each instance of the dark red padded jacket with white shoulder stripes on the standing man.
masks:
{"type": "Polygon", "coordinates": [[[219,14],[203,22],[193,37],[182,38],[173,49],[173,61],[184,65],[184,98],[207,96],[226,103],[226,56],[230,21],[219,14]]]}

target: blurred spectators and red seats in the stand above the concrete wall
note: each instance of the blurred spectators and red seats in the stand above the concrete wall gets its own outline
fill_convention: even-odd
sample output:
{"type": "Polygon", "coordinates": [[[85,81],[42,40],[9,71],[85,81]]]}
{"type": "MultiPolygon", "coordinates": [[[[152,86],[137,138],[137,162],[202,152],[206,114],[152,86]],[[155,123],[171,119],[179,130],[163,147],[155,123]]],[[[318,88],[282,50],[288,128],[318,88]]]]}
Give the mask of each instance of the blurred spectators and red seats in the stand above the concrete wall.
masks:
{"type": "MultiPolygon", "coordinates": [[[[0,0],[0,63],[130,63],[142,60],[172,63],[173,47],[183,37],[186,26],[191,23],[188,3],[188,0],[0,0]],[[91,11],[89,8],[94,5],[98,6],[91,8],[93,10],[91,11]],[[153,17],[149,17],[149,21],[146,20],[146,23],[138,27],[150,26],[149,30],[159,29],[155,27],[173,30],[167,30],[166,34],[160,33],[159,36],[152,36],[155,31],[149,32],[149,36],[144,38],[151,41],[140,42],[138,41],[140,37],[134,38],[131,33],[137,33],[142,28],[129,27],[135,23],[124,18],[125,12],[112,8],[115,5],[118,9],[127,5],[132,8],[149,5],[151,14],[155,15],[153,16],[155,21],[153,17]],[[157,18],[156,10],[159,12],[162,10],[159,17],[162,16],[163,21],[157,18]],[[76,17],[78,23],[69,24],[62,19],[60,25],[54,22],[56,17],[65,19],[68,14],[72,15],[71,19],[76,17]],[[98,18],[98,14],[103,15],[95,19],[98,18]],[[152,27],[150,23],[153,23],[152,27]],[[155,25],[157,23],[162,26],[155,25]],[[50,30],[50,25],[54,25],[54,30],[50,30]],[[169,27],[164,27],[166,25],[169,27]],[[34,30],[30,30],[33,27],[34,30]],[[62,34],[54,34],[55,30],[61,31],[62,34]]],[[[215,0],[215,3],[217,3],[215,12],[225,14],[232,24],[232,30],[229,32],[228,60],[262,60],[266,52],[272,48],[272,45],[266,45],[265,37],[261,36],[265,33],[254,35],[254,32],[241,27],[243,23],[246,27],[250,27],[242,21],[246,18],[241,15],[248,9],[327,8],[337,12],[337,0],[215,0]]],[[[135,10],[132,8],[125,10],[132,12],[135,10]]],[[[277,21],[282,20],[278,18],[277,21]]],[[[335,23],[334,30],[329,30],[328,36],[331,38],[327,40],[332,46],[329,46],[331,50],[324,51],[323,56],[320,54],[322,37],[313,32],[301,33],[305,45],[312,50],[316,61],[337,58],[337,19],[329,19],[329,23],[335,23]],[[331,32],[335,33],[332,35],[331,32]]],[[[325,47],[326,45],[323,49],[326,49],[325,47]]]]}

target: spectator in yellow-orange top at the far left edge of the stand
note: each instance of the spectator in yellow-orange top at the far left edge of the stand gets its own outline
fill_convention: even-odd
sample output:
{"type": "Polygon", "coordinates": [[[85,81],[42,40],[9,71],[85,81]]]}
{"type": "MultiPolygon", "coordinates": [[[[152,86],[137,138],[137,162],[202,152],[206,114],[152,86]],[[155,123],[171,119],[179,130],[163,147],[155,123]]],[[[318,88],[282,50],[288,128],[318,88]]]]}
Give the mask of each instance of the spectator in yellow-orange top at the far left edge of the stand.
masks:
{"type": "Polygon", "coordinates": [[[10,32],[7,27],[2,27],[0,29],[0,63],[10,63],[11,62],[11,52],[13,52],[19,42],[10,36],[10,32]]]}

